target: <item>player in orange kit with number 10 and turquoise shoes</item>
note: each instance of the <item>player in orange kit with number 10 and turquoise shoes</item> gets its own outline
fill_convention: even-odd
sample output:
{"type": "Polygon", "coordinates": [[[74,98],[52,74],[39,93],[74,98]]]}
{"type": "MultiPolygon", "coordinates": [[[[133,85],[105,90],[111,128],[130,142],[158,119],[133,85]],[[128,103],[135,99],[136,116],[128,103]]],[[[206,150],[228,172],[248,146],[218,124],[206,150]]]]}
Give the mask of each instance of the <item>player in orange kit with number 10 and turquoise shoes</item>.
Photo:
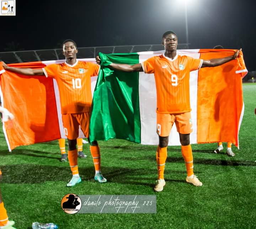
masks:
{"type": "MultiPolygon", "coordinates": [[[[57,81],[60,104],[62,110],[62,121],[65,135],[68,138],[68,159],[73,174],[67,186],[74,186],[81,182],[78,172],[78,152],[76,139],[79,135],[79,125],[85,137],[89,137],[89,122],[91,114],[91,77],[97,76],[100,66],[91,62],[76,60],[78,49],[75,41],[65,40],[62,45],[63,55],[66,61],[60,64],[48,65],[41,69],[14,68],[3,63],[7,71],[24,75],[39,75],[52,77],[57,81]]],[[[89,141],[90,142],[90,141],[89,141]]],[[[102,176],[100,149],[97,141],[90,146],[91,155],[95,166],[94,179],[100,183],[107,180],[102,176]]]]}

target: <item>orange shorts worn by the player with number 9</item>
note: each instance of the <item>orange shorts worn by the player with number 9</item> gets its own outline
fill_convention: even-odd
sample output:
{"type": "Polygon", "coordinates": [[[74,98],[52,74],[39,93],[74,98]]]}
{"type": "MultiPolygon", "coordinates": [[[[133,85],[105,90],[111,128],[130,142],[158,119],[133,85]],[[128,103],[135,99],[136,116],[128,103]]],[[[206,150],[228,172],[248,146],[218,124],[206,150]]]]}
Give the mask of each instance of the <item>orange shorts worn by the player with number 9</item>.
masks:
{"type": "Polygon", "coordinates": [[[177,132],[180,134],[190,134],[193,131],[190,112],[178,114],[160,114],[156,115],[156,132],[161,137],[170,135],[172,125],[176,124],[177,132]]]}

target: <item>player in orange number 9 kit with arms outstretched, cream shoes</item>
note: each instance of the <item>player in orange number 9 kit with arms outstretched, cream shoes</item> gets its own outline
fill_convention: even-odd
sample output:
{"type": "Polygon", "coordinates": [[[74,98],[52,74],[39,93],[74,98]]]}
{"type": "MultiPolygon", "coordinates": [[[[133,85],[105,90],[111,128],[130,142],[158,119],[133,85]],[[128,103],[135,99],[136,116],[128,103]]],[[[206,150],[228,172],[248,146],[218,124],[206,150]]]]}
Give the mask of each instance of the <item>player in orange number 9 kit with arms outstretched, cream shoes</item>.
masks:
{"type": "MultiPolygon", "coordinates": [[[[154,56],[135,65],[110,63],[108,67],[125,72],[154,73],[157,96],[157,132],[159,146],[156,150],[156,162],[158,164],[158,180],[155,191],[162,191],[165,185],[164,167],[167,158],[167,145],[172,125],[176,124],[180,135],[181,153],[185,160],[188,183],[202,186],[202,182],[193,173],[193,155],[190,146],[190,133],[192,132],[191,107],[190,107],[190,72],[201,67],[214,67],[234,60],[239,51],[234,55],[211,60],[194,59],[189,56],[177,55],[177,35],[173,31],[167,31],[162,35],[162,45],[165,53],[154,56]]],[[[100,64],[100,58],[96,57],[100,64]]]]}

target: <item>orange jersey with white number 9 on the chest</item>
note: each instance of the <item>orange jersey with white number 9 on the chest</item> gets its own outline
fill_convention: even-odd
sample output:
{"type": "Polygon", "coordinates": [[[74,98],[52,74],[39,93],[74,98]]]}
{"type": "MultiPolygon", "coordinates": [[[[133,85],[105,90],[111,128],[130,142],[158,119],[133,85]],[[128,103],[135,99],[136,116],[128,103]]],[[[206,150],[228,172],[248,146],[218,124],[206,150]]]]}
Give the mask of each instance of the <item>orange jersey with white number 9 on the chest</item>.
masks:
{"type": "Polygon", "coordinates": [[[202,59],[176,55],[154,56],[142,62],[145,73],[154,73],[157,113],[184,113],[190,107],[190,72],[201,68],[202,59]]]}

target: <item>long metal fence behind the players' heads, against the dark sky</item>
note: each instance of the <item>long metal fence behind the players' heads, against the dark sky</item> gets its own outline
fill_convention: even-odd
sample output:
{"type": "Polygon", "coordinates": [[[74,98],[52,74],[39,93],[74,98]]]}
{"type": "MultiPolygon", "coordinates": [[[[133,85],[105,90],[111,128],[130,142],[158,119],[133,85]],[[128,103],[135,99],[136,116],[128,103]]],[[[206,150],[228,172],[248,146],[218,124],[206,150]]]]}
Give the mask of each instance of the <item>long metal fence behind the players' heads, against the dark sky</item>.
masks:
{"type": "MultiPolygon", "coordinates": [[[[177,49],[187,49],[188,44],[178,44],[177,49]]],[[[123,46],[102,46],[78,48],[77,58],[95,58],[99,52],[110,53],[131,53],[143,51],[163,50],[162,45],[123,45],[123,46]]],[[[62,49],[46,49],[31,51],[0,52],[0,61],[5,63],[22,63],[32,61],[62,60],[64,56],[62,49]]]]}

